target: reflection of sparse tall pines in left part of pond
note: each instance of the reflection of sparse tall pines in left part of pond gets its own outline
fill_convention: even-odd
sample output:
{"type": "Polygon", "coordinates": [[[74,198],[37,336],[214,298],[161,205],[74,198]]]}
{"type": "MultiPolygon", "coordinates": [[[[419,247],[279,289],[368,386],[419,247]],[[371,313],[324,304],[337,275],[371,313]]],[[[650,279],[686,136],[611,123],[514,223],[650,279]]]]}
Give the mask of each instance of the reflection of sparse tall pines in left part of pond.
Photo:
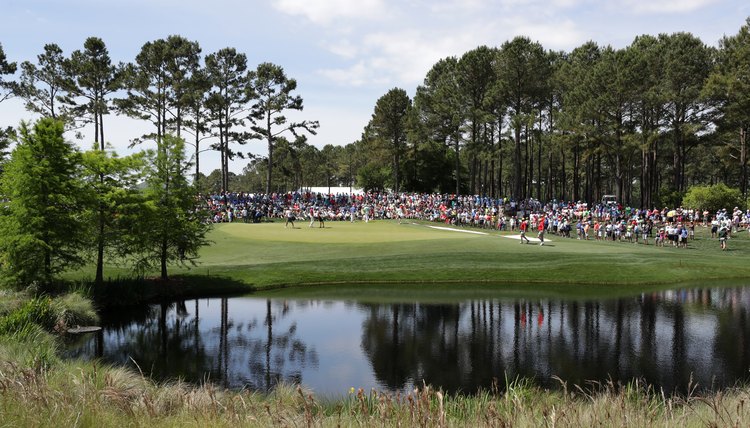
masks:
{"type": "MultiPolygon", "coordinates": [[[[271,390],[282,381],[299,383],[301,368],[317,364],[316,351],[296,336],[295,322],[274,328],[288,315],[288,305],[268,300],[259,320],[261,314],[232,314],[231,301],[195,300],[192,312],[185,302],[153,305],[130,320],[105,317],[103,358],[135,366],[156,380],[252,390],[271,390]],[[210,314],[208,319],[201,312],[210,314]],[[262,335],[256,334],[261,330],[262,335]]],[[[68,355],[93,357],[92,346],[91,339],[73,344],[68,355]]]]}

